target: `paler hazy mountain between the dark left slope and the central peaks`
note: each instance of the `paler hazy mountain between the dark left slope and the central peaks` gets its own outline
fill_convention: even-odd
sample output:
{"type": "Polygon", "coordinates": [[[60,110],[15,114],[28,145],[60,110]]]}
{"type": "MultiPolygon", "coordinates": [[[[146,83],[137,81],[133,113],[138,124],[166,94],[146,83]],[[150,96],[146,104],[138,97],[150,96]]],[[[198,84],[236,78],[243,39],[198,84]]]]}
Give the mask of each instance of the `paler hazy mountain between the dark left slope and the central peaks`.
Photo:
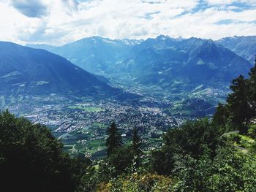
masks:
{"type": "Polygon", "coordinates": [[[88,72],[104,74],[109,65],[125,57],[131,47],[140,40],[112,40],[102,37],[89,37],[76,42],[54,47],[49,45],[27,45],[28,47],[48,50],[67,58],[73,64],[86,69],[88,72]]]}

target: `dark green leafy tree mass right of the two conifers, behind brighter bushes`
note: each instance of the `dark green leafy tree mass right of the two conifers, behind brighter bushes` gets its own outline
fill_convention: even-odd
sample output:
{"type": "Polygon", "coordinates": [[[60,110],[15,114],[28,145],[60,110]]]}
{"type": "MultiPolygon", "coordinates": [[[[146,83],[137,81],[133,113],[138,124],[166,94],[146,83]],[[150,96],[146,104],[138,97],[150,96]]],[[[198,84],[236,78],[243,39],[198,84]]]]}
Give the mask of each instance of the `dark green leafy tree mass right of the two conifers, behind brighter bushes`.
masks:
{"type": "Polygon", "coordinates": [[[187,153],[192,158],[198,158],[206,146],[211,157],[214,156],[221,135],[222,132],[214,128],[208,119],[187,122],[181,128],[170,129],[164,137],[165,145],[153,152],[153,170],[159,174],[170,174],[176,154],[187,153]]]}

